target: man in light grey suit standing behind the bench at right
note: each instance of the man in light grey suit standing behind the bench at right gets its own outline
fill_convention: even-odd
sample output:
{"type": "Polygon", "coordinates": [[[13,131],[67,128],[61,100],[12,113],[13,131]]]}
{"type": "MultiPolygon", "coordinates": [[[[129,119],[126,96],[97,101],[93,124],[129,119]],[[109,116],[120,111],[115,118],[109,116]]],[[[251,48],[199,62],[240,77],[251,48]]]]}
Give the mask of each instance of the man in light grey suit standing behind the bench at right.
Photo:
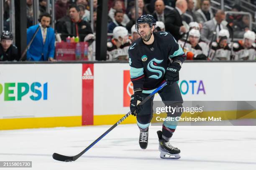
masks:
{"type": "Polygon", "coordinates": [[[225,20],[225,12],[223,10],[218,10],[212,20],[204,23],[201,30],[201,39],[207,43],[210,43],[211,40],[216,41],[216,37],[218,37],[220,30],[227,29],[225,25],[221,24],[223,20],[225,20]],[[216,36],[213,32],[216,32],[216,36]]]}

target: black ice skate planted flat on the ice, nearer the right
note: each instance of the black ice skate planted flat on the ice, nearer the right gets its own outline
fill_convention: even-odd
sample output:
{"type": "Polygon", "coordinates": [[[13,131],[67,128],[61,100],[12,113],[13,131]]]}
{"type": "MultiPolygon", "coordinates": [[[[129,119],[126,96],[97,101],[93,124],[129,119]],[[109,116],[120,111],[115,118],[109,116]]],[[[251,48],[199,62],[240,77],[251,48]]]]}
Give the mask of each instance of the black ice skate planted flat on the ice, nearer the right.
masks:
{"type": "Polygon", "coordinates": [[[160,158],[163,159],[179,159],[180,158],[180,150],[178,148],[173,147],[168,140],[164,140],[162,138],[162,132],[157,131],[157,135],[159,138],[159,151],[160,158]]]}

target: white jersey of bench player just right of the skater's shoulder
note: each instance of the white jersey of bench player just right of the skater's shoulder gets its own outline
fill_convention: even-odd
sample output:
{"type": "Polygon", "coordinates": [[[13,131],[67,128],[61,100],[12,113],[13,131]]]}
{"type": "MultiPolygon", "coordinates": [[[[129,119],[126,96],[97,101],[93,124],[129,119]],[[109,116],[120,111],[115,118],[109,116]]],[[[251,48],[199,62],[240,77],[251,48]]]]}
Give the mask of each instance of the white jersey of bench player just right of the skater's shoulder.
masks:
{"type": "MultiPolygon", "coordinates": [[[[184,39],[178,40],[178,44],[183,47],[185,43],[184,39]]],[[[204,54],[205,56],[208,55],[208,45],[204,41],[199,40],[198,44],[195,47],[192,47],[191,43],[189,41],[186,42],[184,47],[184,52],[193,52],[195,55],[204,54]]]]}

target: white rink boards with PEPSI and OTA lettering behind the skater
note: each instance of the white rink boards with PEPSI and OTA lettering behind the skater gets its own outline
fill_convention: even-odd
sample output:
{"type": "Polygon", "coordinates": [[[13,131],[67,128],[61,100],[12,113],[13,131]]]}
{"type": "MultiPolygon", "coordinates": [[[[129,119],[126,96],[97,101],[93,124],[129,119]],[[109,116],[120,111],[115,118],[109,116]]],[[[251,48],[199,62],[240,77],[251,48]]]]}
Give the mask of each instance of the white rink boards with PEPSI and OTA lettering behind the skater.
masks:
{"type": "MultiPolygon", "coordinates": [[[[178,84],[186,101],[254,101],[255,72],[255,62],[184,63],[178,84]]],[[[0,130],[113,124],[132,91],[128,63],[2,64],[0,130]]]]}

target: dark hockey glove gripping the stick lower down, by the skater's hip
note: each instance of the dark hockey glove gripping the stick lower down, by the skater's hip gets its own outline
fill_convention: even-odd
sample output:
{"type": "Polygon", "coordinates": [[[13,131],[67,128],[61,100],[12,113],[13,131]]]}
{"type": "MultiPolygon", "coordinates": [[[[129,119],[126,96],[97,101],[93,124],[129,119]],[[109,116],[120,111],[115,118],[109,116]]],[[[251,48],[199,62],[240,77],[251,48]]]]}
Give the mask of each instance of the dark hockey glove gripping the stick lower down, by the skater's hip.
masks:
{"type": "Polygon", "coordinates": [[[135,92],[134,95],[131,95],[130,110],[133,116],[136,116],[136,114],[142,110],[142,105],[138,105],[143,100],[141,93],[142,92],[135,92]]]}

